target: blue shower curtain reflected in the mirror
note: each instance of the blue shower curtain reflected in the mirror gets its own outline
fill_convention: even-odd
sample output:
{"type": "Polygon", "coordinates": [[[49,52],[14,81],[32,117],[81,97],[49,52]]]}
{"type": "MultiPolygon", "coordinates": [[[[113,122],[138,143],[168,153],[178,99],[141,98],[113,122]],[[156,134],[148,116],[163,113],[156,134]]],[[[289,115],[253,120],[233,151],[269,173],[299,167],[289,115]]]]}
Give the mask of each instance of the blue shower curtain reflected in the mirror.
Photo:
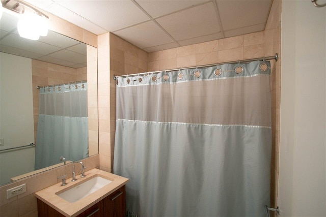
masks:
{"type": "Polygon", "coordinates": [[[35,169],[88,157],[87,83],[41,87],[35,169]]]}

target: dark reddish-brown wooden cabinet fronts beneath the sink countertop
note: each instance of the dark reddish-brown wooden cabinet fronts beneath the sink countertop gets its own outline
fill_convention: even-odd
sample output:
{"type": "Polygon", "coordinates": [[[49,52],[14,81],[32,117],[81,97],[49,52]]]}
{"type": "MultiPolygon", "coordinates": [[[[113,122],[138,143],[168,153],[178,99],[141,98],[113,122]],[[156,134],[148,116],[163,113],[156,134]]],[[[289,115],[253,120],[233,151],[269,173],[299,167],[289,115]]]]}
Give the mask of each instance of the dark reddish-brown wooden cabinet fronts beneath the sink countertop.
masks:
{"type": "MultiPolygon", "coordinates": [[[[37,199],[38,216],[64,217],[57,210],[53,209],[43,201],[37,199]]],[[[122,217],[126,216],[126,188],[123,185],[120,189],[94,204],[77,217],[122,217]]]]}

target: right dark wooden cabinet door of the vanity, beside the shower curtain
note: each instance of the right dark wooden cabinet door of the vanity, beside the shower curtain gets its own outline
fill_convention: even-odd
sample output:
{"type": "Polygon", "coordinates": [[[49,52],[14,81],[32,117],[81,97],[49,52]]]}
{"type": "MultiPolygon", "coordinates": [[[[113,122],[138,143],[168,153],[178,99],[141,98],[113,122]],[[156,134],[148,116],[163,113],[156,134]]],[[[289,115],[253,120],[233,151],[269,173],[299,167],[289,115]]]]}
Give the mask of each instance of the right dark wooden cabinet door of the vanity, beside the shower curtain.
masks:
{"type": "Polygon", "coordinates": [[[105,217],[126,216],[126,187],[120,189],[103,199],[105,217]]]}

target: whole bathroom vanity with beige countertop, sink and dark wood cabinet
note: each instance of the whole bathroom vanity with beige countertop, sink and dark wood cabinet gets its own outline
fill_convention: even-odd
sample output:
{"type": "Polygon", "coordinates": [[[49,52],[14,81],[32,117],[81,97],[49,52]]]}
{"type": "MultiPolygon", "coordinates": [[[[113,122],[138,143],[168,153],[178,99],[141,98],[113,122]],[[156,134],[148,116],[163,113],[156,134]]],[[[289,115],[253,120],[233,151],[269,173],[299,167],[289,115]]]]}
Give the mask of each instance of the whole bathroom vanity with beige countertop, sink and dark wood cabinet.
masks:
{"type": "Polygon", "coordinates": [[[125,216],[128,179],[98,169],[35,193],[38,216],[125,216]]]}

